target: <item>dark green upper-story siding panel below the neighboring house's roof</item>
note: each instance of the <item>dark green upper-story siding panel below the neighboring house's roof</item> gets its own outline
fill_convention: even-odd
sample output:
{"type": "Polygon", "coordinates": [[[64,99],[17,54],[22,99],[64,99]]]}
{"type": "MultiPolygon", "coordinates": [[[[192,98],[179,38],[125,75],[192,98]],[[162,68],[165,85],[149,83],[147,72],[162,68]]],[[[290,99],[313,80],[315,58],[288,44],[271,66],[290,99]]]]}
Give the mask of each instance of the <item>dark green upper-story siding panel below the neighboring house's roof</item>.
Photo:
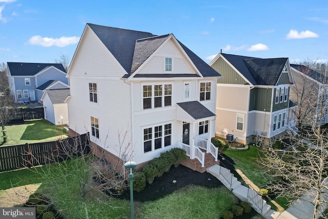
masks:
{"type": "Polygon", "coordinates": [[[249,110],[271,111],[272,88],[253,88],[250,93],[249,110]]]}

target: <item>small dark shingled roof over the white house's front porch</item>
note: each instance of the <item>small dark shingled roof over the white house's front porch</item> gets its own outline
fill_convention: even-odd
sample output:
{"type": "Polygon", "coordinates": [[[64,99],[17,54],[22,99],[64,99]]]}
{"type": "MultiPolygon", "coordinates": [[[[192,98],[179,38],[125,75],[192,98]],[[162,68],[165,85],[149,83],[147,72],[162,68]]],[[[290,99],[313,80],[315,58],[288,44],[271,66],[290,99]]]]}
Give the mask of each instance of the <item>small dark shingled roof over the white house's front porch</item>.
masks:
{"type": "Polygon", "coordinates": [[[213,112],[211,112],[208,108],[204,107],[198,101],[177,103],[177,105],[181,107],[183,110],[185,110],[195,120],[215,116],[213,112]]]}

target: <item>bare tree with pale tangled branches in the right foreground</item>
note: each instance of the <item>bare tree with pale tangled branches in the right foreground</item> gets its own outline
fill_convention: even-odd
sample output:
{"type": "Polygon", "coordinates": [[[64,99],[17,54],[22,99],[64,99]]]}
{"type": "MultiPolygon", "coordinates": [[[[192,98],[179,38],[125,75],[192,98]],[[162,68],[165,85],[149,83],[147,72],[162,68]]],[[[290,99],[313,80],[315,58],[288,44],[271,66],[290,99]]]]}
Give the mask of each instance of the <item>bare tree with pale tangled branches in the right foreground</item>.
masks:
{"type": "MultiPolygon", "coordinates": [[[[322,90],[325,89],[323,85],[322,90]]],[[[326,117],[325,93],[306,102],[314,112],[308,115],[309,126],[299,127],[296,135],[288,136],[290,151],[263,150],[265,158],[261,163],[276,179],[269,187],[273,192],[293,201],[310,202],[314,206],[313,218],[328,218],[322,213],[328,206],[328,130],[318,124],[326,117]]]]}

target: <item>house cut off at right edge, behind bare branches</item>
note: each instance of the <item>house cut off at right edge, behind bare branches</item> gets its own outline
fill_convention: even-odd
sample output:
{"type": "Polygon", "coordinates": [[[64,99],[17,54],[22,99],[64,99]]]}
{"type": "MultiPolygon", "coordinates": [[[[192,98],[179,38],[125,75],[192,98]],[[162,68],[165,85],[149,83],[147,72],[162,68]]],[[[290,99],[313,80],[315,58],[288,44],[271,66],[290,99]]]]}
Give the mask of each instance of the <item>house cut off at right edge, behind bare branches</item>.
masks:
{"type": "Polygon", "coordinates": [[[304,65],[291,64],[295,87],[290,99],[297,104],[299,126],[328,122],[328,89],[326,76],[304,65]],[[322,109],[322,111],[321,111],[322,109]]]}

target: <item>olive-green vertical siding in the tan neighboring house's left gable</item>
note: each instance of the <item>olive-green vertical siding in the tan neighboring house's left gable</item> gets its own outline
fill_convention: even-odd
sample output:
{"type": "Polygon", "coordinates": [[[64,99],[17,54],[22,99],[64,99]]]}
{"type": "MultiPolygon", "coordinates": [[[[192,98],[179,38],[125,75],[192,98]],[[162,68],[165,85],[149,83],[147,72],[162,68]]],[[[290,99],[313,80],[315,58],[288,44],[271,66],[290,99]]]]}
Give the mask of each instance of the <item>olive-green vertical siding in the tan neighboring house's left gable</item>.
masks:
{"type": "Polygon", "coordinates": [[[219,57],[211,67],[223,76],[217,81],[219,84],[244,85],[247,83],[222,57],[219,57]]]}

